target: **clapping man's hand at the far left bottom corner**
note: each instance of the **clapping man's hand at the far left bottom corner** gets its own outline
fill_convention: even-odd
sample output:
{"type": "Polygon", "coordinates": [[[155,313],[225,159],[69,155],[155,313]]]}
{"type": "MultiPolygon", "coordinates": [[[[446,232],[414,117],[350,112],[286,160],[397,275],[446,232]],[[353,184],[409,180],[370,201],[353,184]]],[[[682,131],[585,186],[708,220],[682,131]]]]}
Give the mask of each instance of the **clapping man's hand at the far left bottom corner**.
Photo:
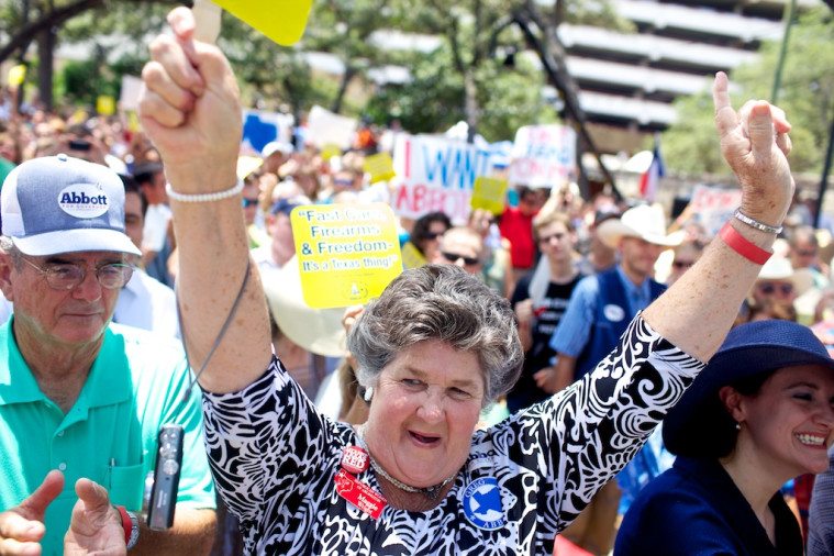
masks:
{"type": "Polygon", "coordinates": [[[40,555],[41,538],[46,533],[46,508],[64,490],[64,474],[52,470],[16,508],[0,513],[0,555],[40,555]]]}

